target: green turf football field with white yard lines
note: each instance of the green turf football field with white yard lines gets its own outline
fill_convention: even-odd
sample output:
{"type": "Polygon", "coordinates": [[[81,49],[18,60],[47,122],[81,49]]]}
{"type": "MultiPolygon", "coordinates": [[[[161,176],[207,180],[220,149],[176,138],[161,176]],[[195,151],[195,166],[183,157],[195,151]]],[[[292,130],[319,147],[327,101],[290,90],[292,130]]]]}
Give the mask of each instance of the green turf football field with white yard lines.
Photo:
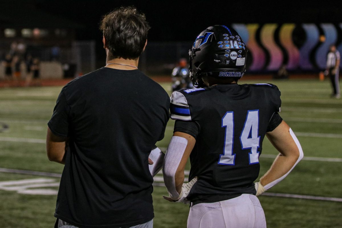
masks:
{"type": "MultiPolygon", "coordinates": [[[[276,84],[281,90],[280,115],[298,136],[305,157],[269,192],[342,198],[342,99],[329,97],[328,81],[243,81],[262,82],[276,84]]],[[[169,83],[162,86],[170,93],[169,83]]],[[[61,87],[0,89],[0,123],[9,125],[8,130],[0,132],[0,168],[62,172],[63,165],[47,159],[44,143],[47,122],[60,90],[61,87]]],[[[167,147],[173,123],[169,121],[159,147],[167,147]]],[[[265,138],[261,174],[276,154],[265,138]]],[[[161,182],[158,175],[156,183],[161,182]]],[[[53,227],[58,183],[58,177],[0,172],[0,227],[53,227]],[[38,193],[46,195],[35,195],[38,193]]],[[[154,227],[186,227],[189,206],[163,200],[166,193],[165,187],[155,186],[154,227]]],[[[342,227],[342,202],[272,196],[259,199],[269,228],[342,227]]]]}

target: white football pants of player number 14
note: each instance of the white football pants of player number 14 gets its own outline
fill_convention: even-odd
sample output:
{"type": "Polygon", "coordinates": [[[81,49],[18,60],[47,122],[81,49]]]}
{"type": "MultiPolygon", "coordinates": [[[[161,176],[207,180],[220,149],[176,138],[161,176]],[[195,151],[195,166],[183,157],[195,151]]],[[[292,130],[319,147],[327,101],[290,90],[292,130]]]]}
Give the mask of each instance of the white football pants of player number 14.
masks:
{"type": "Polygon", "coordinates": [[[266,219],[259,199],[251,194],[190,208],[187,228],[265,228],[266,219]]]}

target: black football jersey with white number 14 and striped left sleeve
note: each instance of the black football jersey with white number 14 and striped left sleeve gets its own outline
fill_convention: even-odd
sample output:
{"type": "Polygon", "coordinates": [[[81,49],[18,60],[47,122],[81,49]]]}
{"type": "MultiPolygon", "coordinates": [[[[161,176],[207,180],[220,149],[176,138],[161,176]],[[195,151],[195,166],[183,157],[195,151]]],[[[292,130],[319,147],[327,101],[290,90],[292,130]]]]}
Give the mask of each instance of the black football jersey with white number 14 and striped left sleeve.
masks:
{"type": "MultiPolygon", "coordinates": [[[[266,132],[280,122],[280,91],[272,84],[222,84],[180,90],[171,96],[175,131],[198,126],[190,154],[189,180],[198,176],[188,199],[215,202],[242,193],[255,195],[254,180],[266,132]],[[187,122],[185,122],[187,121],[187,122]],[[184,124],[182,124],[184,123],[184,124]]],[[[193,129],[190,129],[193,132],[193,129]]]]}

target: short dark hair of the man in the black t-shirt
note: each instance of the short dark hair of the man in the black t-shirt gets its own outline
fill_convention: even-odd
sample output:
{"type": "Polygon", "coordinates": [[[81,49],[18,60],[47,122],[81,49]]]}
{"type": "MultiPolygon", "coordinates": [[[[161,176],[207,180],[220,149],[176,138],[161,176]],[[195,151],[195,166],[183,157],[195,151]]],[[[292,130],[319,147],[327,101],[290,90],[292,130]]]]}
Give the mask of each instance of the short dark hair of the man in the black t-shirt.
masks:
{"type": "Polygon", "coordinates": [[[106,40],[110,59],[135,59],[143,52],[150,27],[143,13],[134,6],[120,7],[106,14],[100,29],[106,40]]]}

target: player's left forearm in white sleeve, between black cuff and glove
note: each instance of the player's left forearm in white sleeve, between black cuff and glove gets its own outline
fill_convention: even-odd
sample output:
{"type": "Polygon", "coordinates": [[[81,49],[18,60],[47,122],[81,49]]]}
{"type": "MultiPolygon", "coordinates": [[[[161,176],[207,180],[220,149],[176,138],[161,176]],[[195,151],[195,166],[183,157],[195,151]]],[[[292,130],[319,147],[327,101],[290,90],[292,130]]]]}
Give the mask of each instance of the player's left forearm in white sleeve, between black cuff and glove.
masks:
{"type": "Polygon", "coordinates": [[[173,200],[181,198],[184,183],[184,169],[196,143],[196,139],[186,133],[174,132],[165,155],[163,177],[165,186],[173,200]]]}

